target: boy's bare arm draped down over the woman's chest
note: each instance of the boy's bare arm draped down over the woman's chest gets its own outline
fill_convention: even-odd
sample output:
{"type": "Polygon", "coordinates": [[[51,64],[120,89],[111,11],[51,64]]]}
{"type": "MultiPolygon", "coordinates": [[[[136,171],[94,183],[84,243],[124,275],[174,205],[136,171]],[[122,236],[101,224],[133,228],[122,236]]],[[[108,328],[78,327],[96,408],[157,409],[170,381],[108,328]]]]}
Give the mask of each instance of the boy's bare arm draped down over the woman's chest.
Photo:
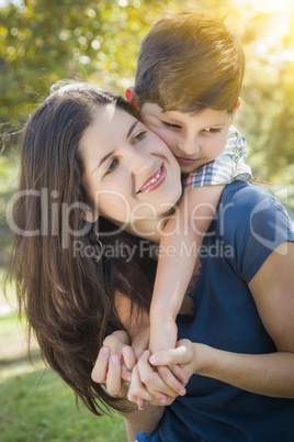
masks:
{"type": "Polygon", "coordinates": [[[165,228],[150,308],[151,352],[176,345],[176,318],[194,273],[197,250],[213,220],[224,187],[204,186],[189,190],[176,217],[165,228]],[[158,333],[162,327],[169,333],[158,333]]]}

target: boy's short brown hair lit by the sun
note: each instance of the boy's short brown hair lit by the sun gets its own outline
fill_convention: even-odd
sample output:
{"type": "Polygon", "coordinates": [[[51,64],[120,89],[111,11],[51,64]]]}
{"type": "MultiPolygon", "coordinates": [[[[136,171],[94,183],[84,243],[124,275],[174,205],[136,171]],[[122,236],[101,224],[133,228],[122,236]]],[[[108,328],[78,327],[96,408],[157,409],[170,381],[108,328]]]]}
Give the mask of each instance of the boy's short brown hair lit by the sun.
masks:
{"type": "Polygon", "coordinates": [[[201,12],[171,13],[145,36],[135,92],[139,104],[199,113],[233,112],[241,90],[245,55],[222,20],[201,12]]]}

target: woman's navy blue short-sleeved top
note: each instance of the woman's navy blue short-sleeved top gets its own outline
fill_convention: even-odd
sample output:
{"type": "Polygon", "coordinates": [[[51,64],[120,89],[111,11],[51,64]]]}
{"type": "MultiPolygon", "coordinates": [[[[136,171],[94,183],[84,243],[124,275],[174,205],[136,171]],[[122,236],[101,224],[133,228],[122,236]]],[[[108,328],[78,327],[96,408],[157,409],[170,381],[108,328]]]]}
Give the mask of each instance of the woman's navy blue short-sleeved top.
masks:
{"type": "MultiPolygon", "coordinates": [[[[193,288],[194,316],[179,316],[179,339],[216,349],[272,353],[276,349],[259,318],[248,283],[284,241],[294,241],[280,202],[248,183],[227,186],[204,237],[201,275],[193,288]]],[[[248,373],[250,376],[250,373],[248,373]]],[[[193,375],[156,432],[138,441],[294,441],[294,399],[271,398],[193,375]]]]}

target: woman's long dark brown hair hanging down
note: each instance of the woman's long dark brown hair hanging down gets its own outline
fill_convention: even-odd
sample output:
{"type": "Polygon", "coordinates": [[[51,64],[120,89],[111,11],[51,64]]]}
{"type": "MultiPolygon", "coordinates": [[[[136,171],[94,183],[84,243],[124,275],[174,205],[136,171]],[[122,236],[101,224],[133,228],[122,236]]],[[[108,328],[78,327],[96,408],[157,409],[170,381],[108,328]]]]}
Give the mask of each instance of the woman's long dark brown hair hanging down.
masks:
{"type": "MultiPolygon", "coordinates": [[[[93,244],[91,225],[80,217],[86,195],[78,146],[93,112],[110,103],[137,117],[112,91],[70,84],[55,90],[29,120],[21,145],[10,267],[20,314],[27,317],[44,361],[95,415],[105,410],[100,401],[125,409],[122,400],[110,397],[91,379],[105,335],[123,329],[114,292],[120,290],[142,309],[150,302],[147,267],[138,253],[129,262],[120,253],[99,262],[84,253],[93,244]],[[75,241],[82,245],[78,251],[75,241]]],[[[139,251],[139,239],[126,232],[111,234],[113,225],[105,219],[99,226],[104,232],[103,247],[118,250],[125,244],[139,251]]]]}

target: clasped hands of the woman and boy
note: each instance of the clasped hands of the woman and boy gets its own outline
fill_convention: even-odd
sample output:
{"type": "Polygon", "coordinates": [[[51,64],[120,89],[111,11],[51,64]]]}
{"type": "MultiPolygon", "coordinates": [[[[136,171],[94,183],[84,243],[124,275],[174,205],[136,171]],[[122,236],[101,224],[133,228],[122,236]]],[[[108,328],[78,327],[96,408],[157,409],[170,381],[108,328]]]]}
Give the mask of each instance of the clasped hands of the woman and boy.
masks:
{"type": "Polygon", "coordinates": [[[170,405],[177,396],[185,395],[184,385],[193,373],[190,367],[193,361],[192,343],[188,340],[179,341],[177,349],[157,354],[158,357],[154,361],[150,352],[145,350],[147,345],[148,342],[145,342],[132,347],[125,331],[112,333],[104,340],[99,352],[92,379],[105,384],[110,395],[126,397],[139,408],[146,401],[152,405],[170,405]],[[179,366],[174,375],[163,366],[177,364],[184,365],[179,366]],[[156,365],[160,367],[156,369],[156,365]],[[126,383],[129,384],[127,393],[123,388],[126,383]]]}

